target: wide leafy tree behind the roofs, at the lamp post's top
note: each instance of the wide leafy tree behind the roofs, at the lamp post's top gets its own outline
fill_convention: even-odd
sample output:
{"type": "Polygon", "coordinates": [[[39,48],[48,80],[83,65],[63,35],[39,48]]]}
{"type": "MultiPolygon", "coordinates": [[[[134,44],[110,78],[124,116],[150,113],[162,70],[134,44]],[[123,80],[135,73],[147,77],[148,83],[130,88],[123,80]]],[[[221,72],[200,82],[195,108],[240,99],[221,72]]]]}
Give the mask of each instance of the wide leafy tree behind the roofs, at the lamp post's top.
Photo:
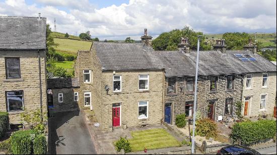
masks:
{"type": "MultiPolygon", "coordinates": [[[[170,32],[162,33],[152,42],[152,46],[155,50],[159,51],[171,51],[177,50],[177,45],[181,42],[181,37],[188,37],[191,50],[197,50],[197,36],[203,35],[202,32],[195,32],[189,27],[183,29],[175,29],[170,32]]],[[[205,45],[205,38],[200,40],[200,50],[211,50],[211,45],[205,45]]]]}

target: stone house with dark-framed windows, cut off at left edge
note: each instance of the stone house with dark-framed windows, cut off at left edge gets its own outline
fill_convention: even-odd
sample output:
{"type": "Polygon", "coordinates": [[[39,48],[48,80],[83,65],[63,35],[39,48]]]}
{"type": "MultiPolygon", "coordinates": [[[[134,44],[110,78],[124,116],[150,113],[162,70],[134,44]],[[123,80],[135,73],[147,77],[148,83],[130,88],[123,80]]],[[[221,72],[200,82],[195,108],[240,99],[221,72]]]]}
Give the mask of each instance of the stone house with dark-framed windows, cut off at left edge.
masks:
{"type": "Polygon", "coordinates": [[[0,111],[19,124],[27,110],[47,111],[46,18],[0,16],[0,111]]]}

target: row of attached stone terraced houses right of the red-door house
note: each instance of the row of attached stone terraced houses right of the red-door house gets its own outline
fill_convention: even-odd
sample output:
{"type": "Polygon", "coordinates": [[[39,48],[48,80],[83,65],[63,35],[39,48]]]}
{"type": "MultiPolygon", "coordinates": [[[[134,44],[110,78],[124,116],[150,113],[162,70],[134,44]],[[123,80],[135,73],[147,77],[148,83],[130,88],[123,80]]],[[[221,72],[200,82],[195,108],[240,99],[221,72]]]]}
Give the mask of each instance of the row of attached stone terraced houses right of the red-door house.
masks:
{"type": "MultiPolygon", "coordinates": [[[[193,115],[196,51],[189,51],[187,39],[179,51],[156,51],[166,67],[164,121],[173,124],[177,114],[193,115]]],[[[250,49],[249,47],[253,47],[250,49]]],[[[216,51],[200,51],[196,111],[213,120],[235,115],[238,101],[242,113],[273,114],[276,95],[276,66],[250,50],[226,51],[224,42],[216,51]]]]}

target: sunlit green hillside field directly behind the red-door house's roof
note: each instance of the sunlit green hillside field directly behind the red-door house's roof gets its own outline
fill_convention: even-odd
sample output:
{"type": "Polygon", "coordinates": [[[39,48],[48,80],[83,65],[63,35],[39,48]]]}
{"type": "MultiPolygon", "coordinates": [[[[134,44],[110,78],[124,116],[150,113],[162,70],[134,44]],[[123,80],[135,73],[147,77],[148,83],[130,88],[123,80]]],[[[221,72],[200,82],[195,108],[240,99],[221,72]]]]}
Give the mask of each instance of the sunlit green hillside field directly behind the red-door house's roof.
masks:
{"type": "Polygon", "coordinates": [[[70,39],[60,39],[54,38],[54,42],[59,44],[56,48],[58,52],[62,52],[65,54],[74,54],[77,55],[78,50],[90,50],[92,42],[87,41],[78,41],[78,40],[70,40],[70,39]]]}

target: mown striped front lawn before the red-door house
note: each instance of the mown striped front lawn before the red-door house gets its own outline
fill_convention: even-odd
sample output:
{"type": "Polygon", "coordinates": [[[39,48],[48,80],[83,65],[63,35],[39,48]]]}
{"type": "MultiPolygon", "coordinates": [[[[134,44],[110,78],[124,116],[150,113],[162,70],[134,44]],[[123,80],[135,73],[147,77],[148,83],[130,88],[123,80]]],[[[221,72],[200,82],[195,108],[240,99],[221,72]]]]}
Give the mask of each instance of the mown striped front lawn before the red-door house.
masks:
{"type": "Polygon", "coordinates": [[[131,132],[133,138],[128,139],[132,151],[180,146],[181,143],[165,129],[149,129],[131,132]]]}

